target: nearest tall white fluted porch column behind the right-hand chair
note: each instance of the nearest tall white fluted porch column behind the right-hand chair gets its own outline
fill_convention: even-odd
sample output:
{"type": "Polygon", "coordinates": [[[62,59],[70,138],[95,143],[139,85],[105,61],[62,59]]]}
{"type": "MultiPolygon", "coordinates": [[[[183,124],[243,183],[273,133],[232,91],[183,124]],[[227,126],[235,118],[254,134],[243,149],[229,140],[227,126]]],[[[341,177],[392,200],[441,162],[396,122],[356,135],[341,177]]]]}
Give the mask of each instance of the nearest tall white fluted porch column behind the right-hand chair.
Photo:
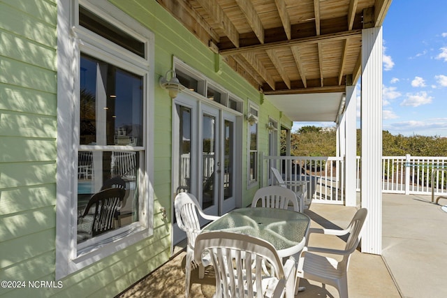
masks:
{"type": "Polygon", "coordinates": [[[362,30],[361,200],[368,209],[362,252],[382,252],[382,27],[362,30]]]}

